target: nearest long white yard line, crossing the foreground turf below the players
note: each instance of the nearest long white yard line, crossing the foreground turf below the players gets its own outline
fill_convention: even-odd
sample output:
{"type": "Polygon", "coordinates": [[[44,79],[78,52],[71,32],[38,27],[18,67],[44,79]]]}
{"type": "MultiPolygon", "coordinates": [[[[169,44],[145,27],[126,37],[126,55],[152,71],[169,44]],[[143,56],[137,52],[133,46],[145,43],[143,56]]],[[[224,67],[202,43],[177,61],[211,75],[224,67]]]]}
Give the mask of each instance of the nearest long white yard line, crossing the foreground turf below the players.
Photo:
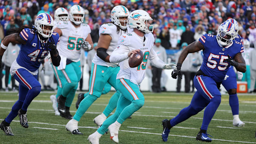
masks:
{"type": "MultiPolygon", "coordinates": [[[[0,119],[0,120],[2,121],[4,119],[0,119]]],[[[13,122],[20,122],[20,121],[13,121],[13,122]]],[[[28,122],[28,123],[47,124],[47,125],[55,125],[55,126],[65,126],[65,125],[61,125],[61,124],[39,123],[39,122],[28,122]]],[[[38,128],[38,127],[34,127],[34,128],[38,128]]],[[[98,129],[97,127],[79,127],[79,128],[98,129]]],[[[44,129],[46,129],[46,128],[44,128],[44,129]]],[[[144,133],[144,134],[161,135],[160,133],[137,132],[137,131],[130,131],[130,130],[120,130],[120,131],[122,131],[122,132],[131,132],[131,133],[144,133]]],[[[196,137],[190,137],[190,136],[186,136],[186,135],[173,135],[173,134],[169,134],[169,135],[170,136],[174,136],[174,137],[196,138],[196,137]]],[[[212,139],[212,140],[219,140],[219,141],[225,141],[225,142],[237,142],[237,143],[252,143],[252,144],[256,144],[255,142],[242,142],[242,141],[225,140],[225,139],[212,139]]]]}

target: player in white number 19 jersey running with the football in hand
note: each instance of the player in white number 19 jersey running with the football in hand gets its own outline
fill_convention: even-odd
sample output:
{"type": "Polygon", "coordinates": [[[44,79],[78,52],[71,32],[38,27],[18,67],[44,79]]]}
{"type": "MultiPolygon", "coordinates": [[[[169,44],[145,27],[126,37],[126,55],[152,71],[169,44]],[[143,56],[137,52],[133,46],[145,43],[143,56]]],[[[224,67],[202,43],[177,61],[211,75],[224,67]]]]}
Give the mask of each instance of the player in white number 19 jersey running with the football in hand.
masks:
{"type": "Polygon", "coordinates": [[[110,130],[110,138],[118,143],[118,130],[121,124],[144,105],[144,96],[139,90],[139,84],[145,77],[148,58],[158,68],[176,69],[175,64],[165,64],[160,60],[153,49],[155,40],[152,32],[154,27],[149,24],[152,20],[148,12],[144,10],[135,10],[128,17],[129,28],[133,28],[133,32],[123,34],[120,37],[118,47],[109,58],[110,62],[120,64],[116,85],[121,95],[116,112],[108,117],[95,133],[88,137],[92,144],[98,144],[100,137],[107,130],[110,130]],[[130,68],[129,56],[139,51],[144,54],[143,62],[136,68],[130,68]]]}

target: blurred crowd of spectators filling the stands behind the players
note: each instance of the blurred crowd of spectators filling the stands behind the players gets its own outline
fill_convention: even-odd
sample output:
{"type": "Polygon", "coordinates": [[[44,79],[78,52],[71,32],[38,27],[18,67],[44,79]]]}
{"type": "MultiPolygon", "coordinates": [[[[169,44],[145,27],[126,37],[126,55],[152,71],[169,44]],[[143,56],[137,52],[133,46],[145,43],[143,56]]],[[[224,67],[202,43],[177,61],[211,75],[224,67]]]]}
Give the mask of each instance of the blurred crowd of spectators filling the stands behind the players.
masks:
{"type": "MultiPolygon", "coordinates": [[[[54,17],[58,7],[68,10],[75,4],[85,9],[84,23],[90,26],[94,43],[98,41],[100,25],[111,21],[111,9],[124,5],[129,11],[141,9],[151,15],[154,37],[160,39],[169,57],[182,46],[198,41],[204,33],[217,34],[218,26],[228,18],[238,21],[239,35],[250,42],[252,50],[256,48],[256,0],[2,0],[0,40],[12,29],[22,25],[32,26],[34,18],[42,12],[54,17]]],[[[175,61],[175,57],[172,60],[175,61]]],[[[255,63],[251,63],[251,71],[256,74],[255,63]]],[[[0,78],[2,76],[1,73],[0,78]]],[[[256,75],[249,79],[255,81],[254,77],[256,75]]]]}

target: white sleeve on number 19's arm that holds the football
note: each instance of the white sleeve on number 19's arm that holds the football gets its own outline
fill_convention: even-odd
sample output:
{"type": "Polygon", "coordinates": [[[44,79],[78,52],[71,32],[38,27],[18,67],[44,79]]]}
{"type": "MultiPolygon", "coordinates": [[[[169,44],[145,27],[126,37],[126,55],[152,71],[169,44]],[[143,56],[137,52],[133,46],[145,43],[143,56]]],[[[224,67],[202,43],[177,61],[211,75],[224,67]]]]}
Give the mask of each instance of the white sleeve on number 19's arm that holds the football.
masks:
{"type": "Polygon", "coordinates": [[[129,48],[124,45],[120,45],[118,47],[119,48],[116,48],[110,55],[111,63],[119,63],[129,58],[128,57],[128,53],[130,52],[129,48]]]}

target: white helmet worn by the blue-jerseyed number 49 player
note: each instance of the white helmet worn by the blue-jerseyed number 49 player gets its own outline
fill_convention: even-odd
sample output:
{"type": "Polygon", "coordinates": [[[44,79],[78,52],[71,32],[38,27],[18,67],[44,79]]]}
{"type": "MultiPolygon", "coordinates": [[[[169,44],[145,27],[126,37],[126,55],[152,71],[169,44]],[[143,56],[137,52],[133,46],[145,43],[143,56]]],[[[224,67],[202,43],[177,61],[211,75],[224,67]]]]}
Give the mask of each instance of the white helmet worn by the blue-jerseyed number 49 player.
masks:
{"type": "Polygon", "coordinates": [[[41,13],[37,15],[34,22],[34,27],[37,29],[37,32],[41,34],[44,38],[52,36],[53,33],[53,18],[47,13],[41,13]],[[50,30],[45,30],[45,26],[51,26],[50,30]]]}

